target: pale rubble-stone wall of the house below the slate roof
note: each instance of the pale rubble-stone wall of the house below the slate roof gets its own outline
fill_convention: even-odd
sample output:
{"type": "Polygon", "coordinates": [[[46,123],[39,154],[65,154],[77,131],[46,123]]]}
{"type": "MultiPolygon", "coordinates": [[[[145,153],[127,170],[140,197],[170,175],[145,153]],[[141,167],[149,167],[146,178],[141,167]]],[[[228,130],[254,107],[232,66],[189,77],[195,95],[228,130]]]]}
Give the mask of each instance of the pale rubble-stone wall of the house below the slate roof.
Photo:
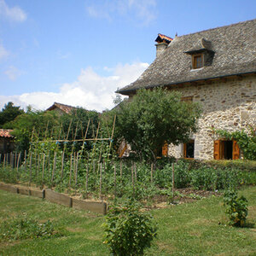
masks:
{"type": "MultiPolygon", "coordinates": [[[[248,125],[256,126],[256,76],[219,79],[208,84],[189,84],[172,87],[182,96],[193,96],[202,108],[199,131],[191,136],[195,139],[195,159],[212,160],[212,127],[237,131],[248,125]]],[[[169,146],[168,154],[183,157],[183,145],[169,146]]]]}

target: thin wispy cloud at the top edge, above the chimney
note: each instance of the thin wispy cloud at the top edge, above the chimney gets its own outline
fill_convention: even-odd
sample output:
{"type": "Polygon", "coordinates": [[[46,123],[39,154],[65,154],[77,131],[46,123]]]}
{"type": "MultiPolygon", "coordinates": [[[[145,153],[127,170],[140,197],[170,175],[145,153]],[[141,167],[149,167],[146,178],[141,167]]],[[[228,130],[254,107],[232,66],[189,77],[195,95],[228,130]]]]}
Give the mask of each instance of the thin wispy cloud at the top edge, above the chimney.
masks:
{"type": "Polygon", "coordinates": [[[156,0],[107,0],[94,3],[86,10],[91,17],[112,20],[114,15],[135,17],[140,25],[148,26],[156,18],[156,0]]]}

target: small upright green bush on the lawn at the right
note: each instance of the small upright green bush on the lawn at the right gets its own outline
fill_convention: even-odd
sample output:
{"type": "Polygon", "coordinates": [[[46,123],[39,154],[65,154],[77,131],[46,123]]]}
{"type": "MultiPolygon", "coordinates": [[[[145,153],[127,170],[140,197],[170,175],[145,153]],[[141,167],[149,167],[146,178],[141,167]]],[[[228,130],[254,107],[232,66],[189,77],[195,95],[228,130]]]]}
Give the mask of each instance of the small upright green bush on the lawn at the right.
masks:
{"type": "Polygon", "coordinates": [[[228,190],[224,193],[226,213],[233,226],[244,226],[248,213],[248,203],[244,196],[238,198],[236,191],[228,190]]]}

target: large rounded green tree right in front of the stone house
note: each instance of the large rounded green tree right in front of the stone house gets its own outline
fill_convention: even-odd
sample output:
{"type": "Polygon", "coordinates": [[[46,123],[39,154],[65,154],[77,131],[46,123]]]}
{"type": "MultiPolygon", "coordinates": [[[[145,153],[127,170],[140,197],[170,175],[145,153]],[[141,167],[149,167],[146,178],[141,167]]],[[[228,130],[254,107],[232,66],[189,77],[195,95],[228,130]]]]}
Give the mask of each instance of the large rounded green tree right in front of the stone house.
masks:
{"type": "Polygon", "coordinates": [[[138,90],[111,112],[117,115],[115,137],[125,139],[143,159],[156,159],[164,143],[177,145],[197,130],[201,110],[193,102],[182,102],[177,92],[158,88],[138,90]]]}

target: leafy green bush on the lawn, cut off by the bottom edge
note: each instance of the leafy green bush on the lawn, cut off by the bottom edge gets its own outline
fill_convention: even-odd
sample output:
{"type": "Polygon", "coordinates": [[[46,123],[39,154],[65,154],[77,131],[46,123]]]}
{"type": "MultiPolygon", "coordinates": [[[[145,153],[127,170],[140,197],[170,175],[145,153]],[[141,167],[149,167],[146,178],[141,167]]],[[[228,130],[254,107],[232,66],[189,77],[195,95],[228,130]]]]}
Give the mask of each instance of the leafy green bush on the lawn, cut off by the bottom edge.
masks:
{"type": "Polygon", "coordinates": [[[104,224],[106,239],[113,255],[143,255],[156,236],[156,228],[148,212],[140,212],[134,201],[113,206],[104,224]]]}

